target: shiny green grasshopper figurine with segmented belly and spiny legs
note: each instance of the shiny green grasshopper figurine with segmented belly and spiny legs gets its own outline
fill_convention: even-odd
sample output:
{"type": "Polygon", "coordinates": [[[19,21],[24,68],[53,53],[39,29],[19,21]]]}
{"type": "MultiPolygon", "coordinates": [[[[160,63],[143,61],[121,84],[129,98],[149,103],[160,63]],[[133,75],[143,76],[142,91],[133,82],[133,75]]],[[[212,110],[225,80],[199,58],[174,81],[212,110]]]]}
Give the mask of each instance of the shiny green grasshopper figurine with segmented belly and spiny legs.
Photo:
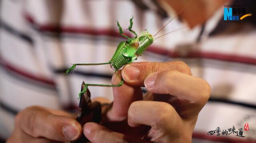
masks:
{"type": "MultiPolygon", "coordinates": [[[[151,35],[147,30],[146,32],[141,31],[141,36],[137,37],[137,33],[131,28],[133,27],[133,17],[130,19],[129,31],[135,35],[135,37],[130,38],[127,35],[123,34],[122,27],[117,21],[117,26],[119,28],[119,33],[127,38],[127,41],[122,41],[117,46],[117,50],[113,55],[112,59],[108,63],[91,63],[91,64],[73,64],[73,66],[66,71],[66,74],[73,71],[77,65],[87,66],[87,65],[106,65],[110,64],[111,68],[115,71],[119,70],[124,65],[133,62],[137,59],[154,41],[153,35],[151,35]]],[[[85,84],[85,88],[82,92],[79,93],[79,98],[86,91],[88,86],[102,86],[102,87],[116,87],[123,84],[123,79],[117,85],[108,85],[108,84],[85,84]]]]}

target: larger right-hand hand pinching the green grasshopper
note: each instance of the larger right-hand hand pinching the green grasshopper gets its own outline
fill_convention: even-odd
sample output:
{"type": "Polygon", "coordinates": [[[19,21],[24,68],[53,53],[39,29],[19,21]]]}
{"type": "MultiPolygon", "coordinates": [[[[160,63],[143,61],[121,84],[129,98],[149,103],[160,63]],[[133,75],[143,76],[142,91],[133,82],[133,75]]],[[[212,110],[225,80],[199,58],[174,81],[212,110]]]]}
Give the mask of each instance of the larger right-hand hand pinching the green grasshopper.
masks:
{"type": "Polygon", "coordinates": [[[209,84],[191,76],[183,62],[131,63],[117,71],[112,83],[114,100],[103,125],[86,123],[85,136],[93,143],[191,142],[198,113],[210,97],[209,84]],[[143,101],[141,86],[149,93],[143,101]],[[151,92],[151,93],[150,93],[151,92]],[[152,94],[154,93],[154,94],[152,94]]]}

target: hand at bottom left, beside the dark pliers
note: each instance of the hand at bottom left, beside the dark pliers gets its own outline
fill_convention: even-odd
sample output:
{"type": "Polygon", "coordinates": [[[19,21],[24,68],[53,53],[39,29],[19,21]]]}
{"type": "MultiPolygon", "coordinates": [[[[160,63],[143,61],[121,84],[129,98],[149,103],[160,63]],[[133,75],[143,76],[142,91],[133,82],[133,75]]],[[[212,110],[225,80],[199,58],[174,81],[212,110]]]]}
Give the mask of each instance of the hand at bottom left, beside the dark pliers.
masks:
{"type": "Polygon", "coordinates": [[[80,137],[82,127],[73,116],[61,110],[38,106],[22,110],[15,118],[15,129],[7,143],[55,143],[80,137]]]}

